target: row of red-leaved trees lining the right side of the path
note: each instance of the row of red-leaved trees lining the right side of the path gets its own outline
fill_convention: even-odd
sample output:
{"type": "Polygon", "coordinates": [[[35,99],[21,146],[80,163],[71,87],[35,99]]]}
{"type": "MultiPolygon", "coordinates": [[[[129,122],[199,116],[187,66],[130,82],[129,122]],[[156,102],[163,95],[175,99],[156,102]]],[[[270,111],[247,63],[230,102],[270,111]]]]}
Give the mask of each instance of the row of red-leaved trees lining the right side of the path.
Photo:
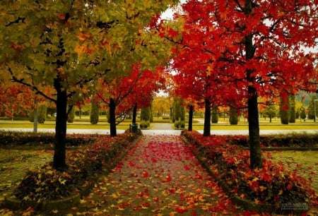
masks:
{"type": "MultiPolygon", "coordinates": [[[[177,95],[205,107],[204,136],[210,136],[211,107],[247,109],[251,168],[262,167],[259,97],[267,103],[317,90],[314,31],[318,1],[195,1],[175,14],[182,31],[171,62],[177,95]],[[314,30],[314,31],[313,31],[314,30]]],[[[189,124],[191,122],[189,121],[189,124]]]]}

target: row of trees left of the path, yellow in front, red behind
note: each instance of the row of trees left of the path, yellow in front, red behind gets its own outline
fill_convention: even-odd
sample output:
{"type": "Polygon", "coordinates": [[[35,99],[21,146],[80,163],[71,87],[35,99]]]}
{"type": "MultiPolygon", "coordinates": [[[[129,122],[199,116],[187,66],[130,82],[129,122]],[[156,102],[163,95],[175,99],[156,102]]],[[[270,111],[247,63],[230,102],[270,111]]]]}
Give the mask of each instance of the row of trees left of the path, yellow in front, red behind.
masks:
{"type": "Polygon", "coordinates": [[[116,136],[116,110],[143,106],[160,87],[171,54],[158,28],[160,13],[176,3],[0,2],[1,84],[20,83],[56,104],[55,169],[67,167],[66,121],[73,106],[90,97],[107,104],[116,136]]]}

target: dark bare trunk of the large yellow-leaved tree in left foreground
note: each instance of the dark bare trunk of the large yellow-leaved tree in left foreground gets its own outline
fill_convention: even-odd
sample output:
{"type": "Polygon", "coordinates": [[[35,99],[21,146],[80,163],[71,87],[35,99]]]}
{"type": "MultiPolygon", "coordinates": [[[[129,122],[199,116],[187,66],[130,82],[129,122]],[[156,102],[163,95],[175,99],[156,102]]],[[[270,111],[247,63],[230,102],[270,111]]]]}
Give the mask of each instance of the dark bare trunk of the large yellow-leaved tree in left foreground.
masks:
{"type": "Polygon", "coordinates": [[[54,88],[57,90],[57,119],[55,123],[55,145],[53,156],[54,169],[66,169],[66,90],[61,86],[59,78],[54,80],[54,88]]]}

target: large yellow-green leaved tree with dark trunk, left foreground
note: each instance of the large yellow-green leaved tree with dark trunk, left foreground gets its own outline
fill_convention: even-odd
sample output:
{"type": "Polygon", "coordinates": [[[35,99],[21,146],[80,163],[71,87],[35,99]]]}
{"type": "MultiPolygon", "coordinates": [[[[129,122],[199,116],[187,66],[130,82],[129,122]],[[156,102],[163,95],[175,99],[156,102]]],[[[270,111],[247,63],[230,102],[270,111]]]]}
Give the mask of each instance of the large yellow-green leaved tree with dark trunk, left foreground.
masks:
{"type": "Polygon", "coordinates": [[[55,169],[67,167],[67,104],[90,95],[95,78],[126,73],[135,59],[148,66],[140,49],[151,42],[137,48],[135,39],[174,2],[0,1],[1,71],[57,106],[55,169]]]}

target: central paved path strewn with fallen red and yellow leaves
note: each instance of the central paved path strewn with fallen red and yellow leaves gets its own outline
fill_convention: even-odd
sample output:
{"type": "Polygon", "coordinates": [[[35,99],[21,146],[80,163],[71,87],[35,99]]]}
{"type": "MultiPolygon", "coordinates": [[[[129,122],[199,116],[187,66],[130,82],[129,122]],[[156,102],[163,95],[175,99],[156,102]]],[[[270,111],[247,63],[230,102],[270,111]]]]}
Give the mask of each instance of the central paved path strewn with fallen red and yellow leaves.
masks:
{"type": "Polygon", "coordinates": [[[144,136],[72,212],[76,215],[237,215],[179,136],[144,136]]]}

